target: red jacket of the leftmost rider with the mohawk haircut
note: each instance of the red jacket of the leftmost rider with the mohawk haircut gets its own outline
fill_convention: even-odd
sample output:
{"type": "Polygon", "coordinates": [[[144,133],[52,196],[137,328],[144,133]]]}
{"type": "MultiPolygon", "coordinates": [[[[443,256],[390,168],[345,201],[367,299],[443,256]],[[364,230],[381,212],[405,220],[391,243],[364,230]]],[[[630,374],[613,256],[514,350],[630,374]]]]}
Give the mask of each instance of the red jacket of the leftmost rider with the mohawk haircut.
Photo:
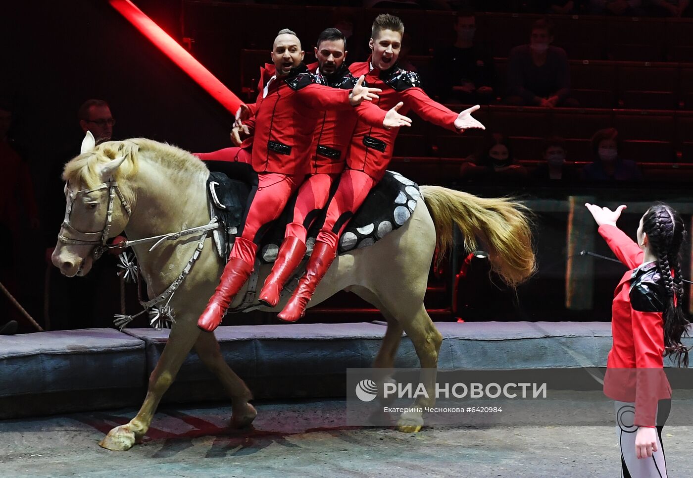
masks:
{"type": "MultiPolygon", "coordinates": [[[[265,65],[258,85],[258,98],[249,105],[254,117],[244,121],[254,135],[252,166],[258,173],[304,175],[315,125],[328,110],[344,110],[370,125],[382,126],[385,112],[369,101],[357,108],[349,104],[351,89],[335,89],[319,84],[305,65],[283,78],[274,76],[274,65],[265,65]],[[263,90],[267,85],[267,96],[263,90]],[[263,97],[264,96],[264,97],[263,97]]],[[[244,142],[243,146],[249,146],[244,142]]]]}

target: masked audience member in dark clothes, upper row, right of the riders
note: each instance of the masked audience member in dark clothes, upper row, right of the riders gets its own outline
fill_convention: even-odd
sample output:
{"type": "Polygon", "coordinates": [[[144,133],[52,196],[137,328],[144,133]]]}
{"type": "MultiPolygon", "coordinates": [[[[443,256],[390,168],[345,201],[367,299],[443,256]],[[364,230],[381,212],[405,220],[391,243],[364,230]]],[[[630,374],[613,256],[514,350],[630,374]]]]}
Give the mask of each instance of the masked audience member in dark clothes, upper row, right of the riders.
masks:
{"type": "Polygon", "coordinates": [[[435,94],[441,102],[487,105],[495,99],[493,59],[475,44],[475,31],[473,12],[460,10],[455,18],[455,43],[436,49],[434,53],[435,94]]]}

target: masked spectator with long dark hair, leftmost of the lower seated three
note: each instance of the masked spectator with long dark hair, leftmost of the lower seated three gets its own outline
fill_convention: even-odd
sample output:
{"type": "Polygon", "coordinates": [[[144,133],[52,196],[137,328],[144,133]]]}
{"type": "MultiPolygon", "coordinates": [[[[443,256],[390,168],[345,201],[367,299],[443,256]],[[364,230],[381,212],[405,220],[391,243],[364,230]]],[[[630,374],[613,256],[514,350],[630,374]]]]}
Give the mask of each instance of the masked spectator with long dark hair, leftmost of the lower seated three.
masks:
{"type": "Polygon", "coordinates": [[[527,177],[527,169],[514,160],[508,139],[491,133],[480,151],[462,163],[459,174],[463,179],[519,180],[527,177]]]}

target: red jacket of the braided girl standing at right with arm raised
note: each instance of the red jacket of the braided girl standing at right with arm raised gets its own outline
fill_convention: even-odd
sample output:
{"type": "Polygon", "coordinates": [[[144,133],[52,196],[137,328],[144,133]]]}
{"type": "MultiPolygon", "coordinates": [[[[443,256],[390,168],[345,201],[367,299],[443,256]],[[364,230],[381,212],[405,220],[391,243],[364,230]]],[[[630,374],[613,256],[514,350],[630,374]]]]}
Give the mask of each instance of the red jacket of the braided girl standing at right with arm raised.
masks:
{"type": "MultiPolygon", "coordinates": [[[[630,269],[616,287],[611,306],[613,345],[606,362],[604,394],[613,400],[635,402],[634,424],[651,427],[655,425],[658,400],[672,396],[663,368],[663,312],[640,307],[640,292],[631,290],[631,282],[651,270],[653,263],[640,266],[644,253],[619,228],[601,225],[599,234],[630,269]],[[634,300],[639,303],[631,303],[634,300]]],[[[649,285],[650,289],[656,288],[656,284],[649,285]]]]}

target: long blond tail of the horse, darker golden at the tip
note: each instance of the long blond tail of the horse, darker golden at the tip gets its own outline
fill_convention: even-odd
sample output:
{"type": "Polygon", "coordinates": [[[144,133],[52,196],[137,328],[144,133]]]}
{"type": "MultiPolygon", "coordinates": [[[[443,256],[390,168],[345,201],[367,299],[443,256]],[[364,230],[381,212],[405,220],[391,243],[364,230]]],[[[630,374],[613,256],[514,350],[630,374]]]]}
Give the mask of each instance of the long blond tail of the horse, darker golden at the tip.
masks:
{"type": "Polygon", "coordinates": [[[439,260],[453,246],[453,223],[464,237],[467,251],[482,241],[491,267],[511,286],[534,273],[532,212],[512,198],[480,198],[440,186],[421,186],[436,231],[439,260]]]}

